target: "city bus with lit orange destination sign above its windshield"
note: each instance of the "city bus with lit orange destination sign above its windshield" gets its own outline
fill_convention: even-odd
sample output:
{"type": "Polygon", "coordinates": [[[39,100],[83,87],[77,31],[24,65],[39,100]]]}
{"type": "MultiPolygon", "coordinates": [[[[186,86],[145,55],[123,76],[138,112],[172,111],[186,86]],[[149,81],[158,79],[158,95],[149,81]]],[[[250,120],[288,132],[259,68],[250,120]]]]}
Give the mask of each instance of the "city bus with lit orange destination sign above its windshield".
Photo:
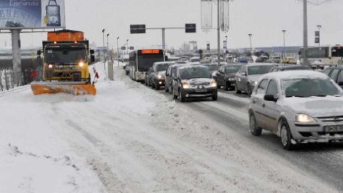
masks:
{"type": "Polygon", "coordinates": [[[163,49],[141,49],[130,52],[130,77],[135,81],[144,81],[145,73],[155,62],[164,61],[163,49]]]}

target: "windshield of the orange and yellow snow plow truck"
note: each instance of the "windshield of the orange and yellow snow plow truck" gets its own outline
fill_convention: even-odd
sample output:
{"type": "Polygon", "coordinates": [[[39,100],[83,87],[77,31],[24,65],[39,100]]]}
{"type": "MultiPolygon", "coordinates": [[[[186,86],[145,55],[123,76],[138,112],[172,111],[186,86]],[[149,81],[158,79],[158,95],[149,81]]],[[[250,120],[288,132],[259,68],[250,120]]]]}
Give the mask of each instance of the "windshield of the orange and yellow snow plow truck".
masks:
{"type": "Polygon", "coordinates": [[[86,61],[85,49],[46,49],[45,52],[46,63],[78,63],[86,61]]]}

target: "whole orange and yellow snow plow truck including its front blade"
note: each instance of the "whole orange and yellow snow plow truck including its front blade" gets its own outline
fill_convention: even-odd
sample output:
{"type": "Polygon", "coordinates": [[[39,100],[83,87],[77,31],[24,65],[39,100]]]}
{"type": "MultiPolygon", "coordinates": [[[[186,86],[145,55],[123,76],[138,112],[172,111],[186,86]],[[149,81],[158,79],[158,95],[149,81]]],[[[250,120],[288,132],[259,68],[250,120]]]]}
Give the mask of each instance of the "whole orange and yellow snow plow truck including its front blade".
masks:
{"type": "Polygon", "coordinates": [[[94,50],[84,33],[73,30],[48,32],[48,41],[37,51],[37,59],[43,54],[42,81],[31,83],[32,92],[38,94],[70,93],[95,95],[91,82],[90,63],[94,62],[94,50]]]}

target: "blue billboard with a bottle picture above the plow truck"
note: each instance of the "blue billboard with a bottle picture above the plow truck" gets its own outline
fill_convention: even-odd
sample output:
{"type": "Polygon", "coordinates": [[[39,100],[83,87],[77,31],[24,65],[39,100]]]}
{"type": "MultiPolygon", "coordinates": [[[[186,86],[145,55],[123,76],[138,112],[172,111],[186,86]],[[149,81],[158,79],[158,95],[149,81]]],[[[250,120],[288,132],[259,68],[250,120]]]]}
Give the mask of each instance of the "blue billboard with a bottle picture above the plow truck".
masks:
{"type": "Polygon", "coordinates": [[[0,29],[65,27],[64,0],[0,0],[0,29]]]}

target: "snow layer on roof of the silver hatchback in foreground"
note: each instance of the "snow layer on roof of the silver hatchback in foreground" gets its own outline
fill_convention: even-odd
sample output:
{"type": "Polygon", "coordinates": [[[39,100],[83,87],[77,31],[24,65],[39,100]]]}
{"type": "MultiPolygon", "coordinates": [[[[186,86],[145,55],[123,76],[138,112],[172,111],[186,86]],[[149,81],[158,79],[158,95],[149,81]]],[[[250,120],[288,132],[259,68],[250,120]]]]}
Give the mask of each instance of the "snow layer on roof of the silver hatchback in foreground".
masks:
{"type": "Polygon", "coordinates": [[[279,71],[265,74],[261,77],[264,78],[275,78],[275,79],[296,79],[296,78],[321,78],[327,79],[328,76],[322,72],[313,70],[294,70],[294,71],[279,71]]]}

